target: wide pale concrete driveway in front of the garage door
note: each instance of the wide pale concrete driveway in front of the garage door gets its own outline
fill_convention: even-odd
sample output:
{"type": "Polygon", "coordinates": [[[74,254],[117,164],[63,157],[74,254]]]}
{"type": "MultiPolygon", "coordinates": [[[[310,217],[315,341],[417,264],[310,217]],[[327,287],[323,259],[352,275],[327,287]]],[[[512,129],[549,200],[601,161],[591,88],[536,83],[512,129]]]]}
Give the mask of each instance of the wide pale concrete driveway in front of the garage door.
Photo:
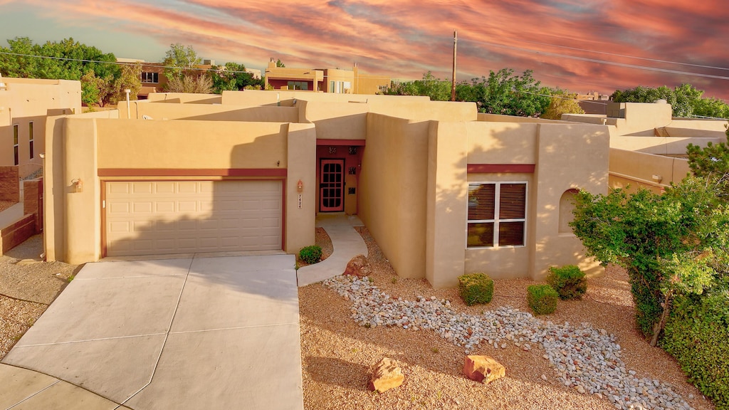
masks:
{"type": "Polygon", "coordinates": [[[293,255],[88,263],[4,357],[129,409],[303,409],[293,255]]]}

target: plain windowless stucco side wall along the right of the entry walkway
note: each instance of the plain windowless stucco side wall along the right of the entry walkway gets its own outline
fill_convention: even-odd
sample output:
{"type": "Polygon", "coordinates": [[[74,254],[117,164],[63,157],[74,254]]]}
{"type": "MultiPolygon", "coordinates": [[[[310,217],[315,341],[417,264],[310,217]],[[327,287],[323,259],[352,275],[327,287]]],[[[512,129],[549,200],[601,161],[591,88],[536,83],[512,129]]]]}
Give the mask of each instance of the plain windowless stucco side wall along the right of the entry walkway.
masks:
{"type": "Polygon", "coordinates": [[[425,276],[429,122],[367,116],[359,217],[398,276],[425,276]]]}

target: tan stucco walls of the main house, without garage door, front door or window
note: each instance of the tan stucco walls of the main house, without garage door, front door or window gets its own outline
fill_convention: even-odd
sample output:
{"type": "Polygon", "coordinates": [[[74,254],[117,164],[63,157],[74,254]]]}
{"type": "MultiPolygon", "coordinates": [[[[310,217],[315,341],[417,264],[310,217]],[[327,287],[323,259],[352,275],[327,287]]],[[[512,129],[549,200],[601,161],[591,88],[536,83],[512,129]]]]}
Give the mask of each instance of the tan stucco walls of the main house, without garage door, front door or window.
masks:
{"type": "Polygon", "coordinates": [[[565,198],[607,192],[606,125],[488,117],[472,103],[423,97],[246,90],[200,101],[170,94],[133,101],[129,113],[120,104],[106,117],[48,120],[49,260],[103,258],[104,184],[147,179],[280,179],[281,250],[297,252],[314,241],[319,163],[341,158],[343,212],[359,215],[399,276],[451,287],[473,271],[534,279],[567,263],[600,271],[565,229],[565,198]],[[523,245],[467,247],[469,182],[526,182],[523,245]]]}

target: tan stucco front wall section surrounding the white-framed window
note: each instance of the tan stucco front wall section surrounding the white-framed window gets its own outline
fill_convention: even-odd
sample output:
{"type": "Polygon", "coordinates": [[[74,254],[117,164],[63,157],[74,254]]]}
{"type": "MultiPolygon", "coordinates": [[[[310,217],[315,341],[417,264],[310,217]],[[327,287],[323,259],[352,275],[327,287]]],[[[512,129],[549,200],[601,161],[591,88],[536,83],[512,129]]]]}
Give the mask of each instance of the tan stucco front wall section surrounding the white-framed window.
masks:
{"type": "Polygon", "coordinates": [[[605,127],[529,123],[434,123],[429,134],[426,278],[452,287],[464,273],[542,279],[549,266],[577,263],[580,240],[559,233],[560,199],[582,188],[607,192],[605,127]],[[534,165],[534,173],[468,174],[469,164],[534,165]],[[467,249],[468,182],[527,182],[526,246],[467,249]]]}

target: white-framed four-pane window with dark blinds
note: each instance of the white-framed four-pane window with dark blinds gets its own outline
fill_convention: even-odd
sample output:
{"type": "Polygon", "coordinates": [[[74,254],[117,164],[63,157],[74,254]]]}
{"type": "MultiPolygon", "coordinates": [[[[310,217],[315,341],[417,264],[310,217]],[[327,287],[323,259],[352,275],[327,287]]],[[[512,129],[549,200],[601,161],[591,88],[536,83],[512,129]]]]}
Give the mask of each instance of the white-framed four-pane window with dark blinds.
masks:
{"type": "Polygon", "coordinates": [[[523,246],[526,233],[526,182],[468,185],[467,247],[523,246]]]}

